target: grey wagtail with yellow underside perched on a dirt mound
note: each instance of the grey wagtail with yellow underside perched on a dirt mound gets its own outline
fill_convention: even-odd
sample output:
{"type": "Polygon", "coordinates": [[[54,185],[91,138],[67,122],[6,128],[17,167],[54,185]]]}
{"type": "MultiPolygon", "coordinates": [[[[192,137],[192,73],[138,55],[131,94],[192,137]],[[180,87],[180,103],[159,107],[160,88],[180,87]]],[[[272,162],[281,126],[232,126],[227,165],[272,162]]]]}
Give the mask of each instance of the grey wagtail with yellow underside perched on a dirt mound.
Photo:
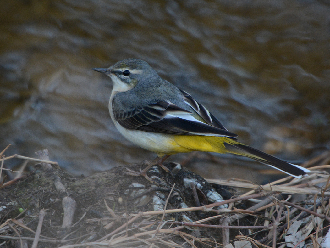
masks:
{"type": "Polygon", "coordinates": [[[234,153],[300,177],[310,170],[237,142],[202,104],[187,92],[162,79],[142,60],[126,59],[109,68],[93,68],[113,81],[109,111],[118,131],[129,141],[158,157],[143,171],[130,175],[145,175],[152,165],[162,165],[172,154],[190,151],[234,153]]]}

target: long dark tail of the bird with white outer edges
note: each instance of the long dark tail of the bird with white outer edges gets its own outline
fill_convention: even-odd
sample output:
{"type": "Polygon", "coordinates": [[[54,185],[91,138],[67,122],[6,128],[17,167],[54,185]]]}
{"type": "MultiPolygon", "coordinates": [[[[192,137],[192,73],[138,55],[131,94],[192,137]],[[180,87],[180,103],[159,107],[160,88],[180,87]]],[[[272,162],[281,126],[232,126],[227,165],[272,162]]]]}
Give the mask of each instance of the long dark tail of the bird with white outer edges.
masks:
{"type": "Polygon", "coordinates": [[[229,144],[224,142],[224,145],[226,147],[227,152],[255,159],[263,164],[269,165],[293,177],[299,178],[302,175],[311,172],[310,170],[304,167],[285,162],[279,158],[273,157],[272,155],[259,151],[248,145],[243,145],[238,142],[237,143],[235,142],[234,144],[233,143],[229,144]]]}

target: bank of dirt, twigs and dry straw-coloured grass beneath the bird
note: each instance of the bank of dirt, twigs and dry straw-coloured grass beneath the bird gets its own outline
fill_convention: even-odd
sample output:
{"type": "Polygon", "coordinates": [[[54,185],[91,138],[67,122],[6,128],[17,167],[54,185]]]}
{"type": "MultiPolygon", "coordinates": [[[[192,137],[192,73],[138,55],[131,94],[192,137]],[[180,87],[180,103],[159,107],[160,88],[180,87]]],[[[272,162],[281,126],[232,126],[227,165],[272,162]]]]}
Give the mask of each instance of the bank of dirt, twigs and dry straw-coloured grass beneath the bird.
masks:
{"type": "MultiPolygon", "coordinates": [[[[329,153],[322,156],[322,162],[330,157],[329,153]]],[[[313,173],[300,179],[286,177],[265,185],[240,179],[208,180],[249,191],[197,207],[194,201],[188,204],[187,189],[179,188],[178,179],[172,182],[164,174],[163,183],[169,185],[160,184],[166,188],[163,210],[150,210],[153,196],[147,197],[149,201],[144,198],[145,205],[139,206],[143,200],[136,203],[150,190],[134,200],[124,196],[132,179],[148,182],[141,177],[124,182],[127,176],[122,176],[122,168],[76,179],[59,169],[49,170],[49,164],[56,164],[49,159],[29,159],[48,164],[48,169],[0,183],[0,247],[329,247],[330,177],[326,171],[330,165],[318,165],[319,159],[311,162],[313,173]],[[184,190],[187,207],[177,207],[176,194],[184,190]],[[66,203],[67,197],[73,205],[66,203]],[[20,204],[19,199],[36,202],[20,204]]],[[[5,170],[4,161],[0,173],[5,170]]]]}

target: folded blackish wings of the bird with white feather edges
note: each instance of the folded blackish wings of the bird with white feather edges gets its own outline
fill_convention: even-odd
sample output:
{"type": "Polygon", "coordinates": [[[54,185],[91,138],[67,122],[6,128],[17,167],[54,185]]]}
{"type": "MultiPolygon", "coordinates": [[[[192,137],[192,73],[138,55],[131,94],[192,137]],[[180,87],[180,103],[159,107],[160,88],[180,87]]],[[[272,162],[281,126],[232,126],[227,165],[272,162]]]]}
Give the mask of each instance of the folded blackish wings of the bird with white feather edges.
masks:
{"type": "MultiPolygon", "coordinates": [[[[187,93],[184,97],[187,97],[186,95],[187,93]]],[[[223,126],[219,125],[215,117],[193,98],[190,97],[187,101],[196,112],[199,110],[197,113],[204,120],[206,119],[206,123],[194,118],[191,111],[165,101],[134,108],[127,112],[114,111],[114,117],[121,126],[127,129],[180,135],[237,137],[236,134],[222,128],[223,126]]]]}

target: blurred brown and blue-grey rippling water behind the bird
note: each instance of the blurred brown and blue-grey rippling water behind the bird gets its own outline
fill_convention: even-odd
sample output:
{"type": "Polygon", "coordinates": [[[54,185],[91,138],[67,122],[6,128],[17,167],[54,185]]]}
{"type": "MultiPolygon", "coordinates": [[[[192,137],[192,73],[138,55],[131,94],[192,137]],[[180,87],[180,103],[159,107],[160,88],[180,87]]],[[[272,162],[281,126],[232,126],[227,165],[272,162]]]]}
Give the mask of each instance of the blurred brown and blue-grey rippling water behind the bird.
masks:
{"type": "MultiPolygon", "coordinates": [[[[91,70],[125,58],[149,62],[245,144],[293,162],[329,149],[328,1],[2,5],[0,150],[11,143],[7,155],[48,148],[61,167],[85,175],[154,158],[117,132],[107,109],[110,78],[91,70]]],[[[213,155],[216,161],[205,153],[172,161],[210,177],[251,178],[240,165],[262,168],[213,155]]]]}

